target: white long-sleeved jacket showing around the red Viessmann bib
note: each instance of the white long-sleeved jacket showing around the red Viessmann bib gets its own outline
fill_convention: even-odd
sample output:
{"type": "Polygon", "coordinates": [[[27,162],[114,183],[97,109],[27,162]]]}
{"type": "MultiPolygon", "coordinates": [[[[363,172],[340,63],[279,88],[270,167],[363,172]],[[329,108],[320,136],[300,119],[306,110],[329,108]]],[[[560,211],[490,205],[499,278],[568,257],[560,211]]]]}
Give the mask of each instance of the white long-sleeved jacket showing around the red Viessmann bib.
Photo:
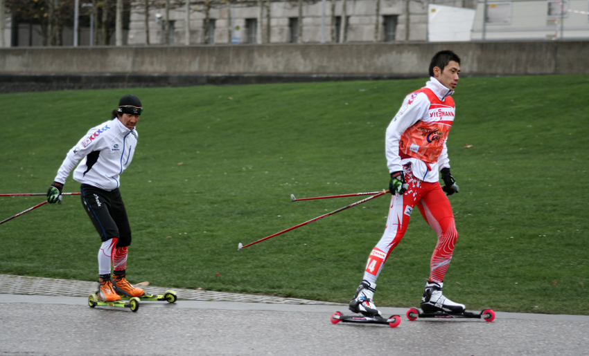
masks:
{"type": "MultiPolygon", "coordinates": [[[[430,81],[425,84],[425,88],[430,88],[440,100],[444,100],[454,91],[443,86],[437,79],[430,77],[430,81]]],[[[425,182],[437,182],[439,180],[439,171],[442,168],[450,168],[448,159],[448,149],[446,141],[443,142],[443,149],[437,162],[426,163],[417,158],[403,158],[399,155],[399,140],[401,135],[412,127],[419,120],[428,121],[430,118],[430,100],[425,93],[412,93],[405,97],[401,109],[395,115],[385,137],[385,152],[387,156],[387,166],[389,172],[402,171],[403,165],[411,163],[413,175],[425,182]]]]}

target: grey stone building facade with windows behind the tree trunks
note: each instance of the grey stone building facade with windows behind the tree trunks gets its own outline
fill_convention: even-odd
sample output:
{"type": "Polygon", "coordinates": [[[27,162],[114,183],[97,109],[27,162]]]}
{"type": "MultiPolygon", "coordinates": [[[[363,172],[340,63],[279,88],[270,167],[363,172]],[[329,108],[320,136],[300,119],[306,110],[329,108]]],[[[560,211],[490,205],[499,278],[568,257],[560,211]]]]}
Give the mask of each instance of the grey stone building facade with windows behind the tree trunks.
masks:
{"type": "MultiPolygon", "coordinates": [[[[425,41],[428,2],[415,0],[326,0],[211,2],[206,26],[204,5],[189,10],[188,44],[285,44],[371,41],[425,41]],[[300,7],[299,7],[300,6],[300,7]],[[300,16],[299,16],[300,13],[300,16]],[[345,17],[344,17],[345,14],[345,17]],[[205,30],[208,27],[209,30],[205,30]]],[[[432,3],[430,1],[429,3],[432,3]]],[[[443,1],[474,8],[474,1],[443,1]]],[[[128,44],[186,44],[186,8],[134,6],[128,44]]]]}

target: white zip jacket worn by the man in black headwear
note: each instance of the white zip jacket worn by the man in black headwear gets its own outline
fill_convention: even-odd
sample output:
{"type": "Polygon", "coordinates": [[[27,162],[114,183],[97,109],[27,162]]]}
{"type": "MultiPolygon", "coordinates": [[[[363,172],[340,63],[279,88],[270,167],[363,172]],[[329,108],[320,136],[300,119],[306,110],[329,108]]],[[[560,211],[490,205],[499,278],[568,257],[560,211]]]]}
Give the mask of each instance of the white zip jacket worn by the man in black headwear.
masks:
{"type": "Polygon", "coordinates": [[[82,184],[112,191],[120,185],[119,175],[129,167],[135,147],[137,130],[130,130],[118,118],[91,128],[67,153],[55,181],[65,183],[73,171],[73,179],[82,184]]]}

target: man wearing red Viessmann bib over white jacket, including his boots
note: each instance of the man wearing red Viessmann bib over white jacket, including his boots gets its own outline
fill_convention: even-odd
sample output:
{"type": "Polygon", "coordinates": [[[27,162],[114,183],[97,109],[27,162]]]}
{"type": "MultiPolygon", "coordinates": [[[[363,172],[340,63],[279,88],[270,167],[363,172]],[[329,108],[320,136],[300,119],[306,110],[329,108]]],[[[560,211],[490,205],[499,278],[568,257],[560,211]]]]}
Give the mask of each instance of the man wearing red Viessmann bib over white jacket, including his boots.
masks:
{"type": "Polygon", "coordinates": [[[464,312],[462,304],[442,294],[443,277],[448,270],[458,233],[448,196],[458,192],[450,174],[446,139],[455,115],[454,93],[460,73],[460,59],[450,50],[432,58],[430,81],[405,97],[401,109],[386,133],[387,165],[392,194],[387,227],[368,258],[364,278],[350,301],[350,310],[363,315],[380,315],[372,299],[376,279],[394,247],[407,230],[410,215],[417,207],[437,233],[438,243],[430,262],[421,309],[424,312],[464,312]],[[444,186],[439,184],[441,173],[444,186]]]}

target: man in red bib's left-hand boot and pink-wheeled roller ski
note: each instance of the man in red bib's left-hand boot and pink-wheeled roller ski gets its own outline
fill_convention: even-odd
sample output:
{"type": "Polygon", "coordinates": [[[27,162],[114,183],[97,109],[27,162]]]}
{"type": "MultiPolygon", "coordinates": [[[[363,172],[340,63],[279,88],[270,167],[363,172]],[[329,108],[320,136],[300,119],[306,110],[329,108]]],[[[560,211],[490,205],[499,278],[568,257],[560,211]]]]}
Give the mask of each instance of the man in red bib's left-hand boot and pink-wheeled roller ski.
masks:
{"type": "Polygon", "coordinates": [[[341,312],[334,312],[331,315],[331,322],[333,324],[337,324],[340,321],[346,323],[389,324],[391,328],[396,328],[401,324],[401,317],[393,315],[389,318],[383,318],[380,315],[380,311],[376,309],[376,306],[372,302],[375,290],[376,283],[362,281],[349,305],[349,309],[352,312],[360,313],[361,315],[342,315],[341,312]]]}

